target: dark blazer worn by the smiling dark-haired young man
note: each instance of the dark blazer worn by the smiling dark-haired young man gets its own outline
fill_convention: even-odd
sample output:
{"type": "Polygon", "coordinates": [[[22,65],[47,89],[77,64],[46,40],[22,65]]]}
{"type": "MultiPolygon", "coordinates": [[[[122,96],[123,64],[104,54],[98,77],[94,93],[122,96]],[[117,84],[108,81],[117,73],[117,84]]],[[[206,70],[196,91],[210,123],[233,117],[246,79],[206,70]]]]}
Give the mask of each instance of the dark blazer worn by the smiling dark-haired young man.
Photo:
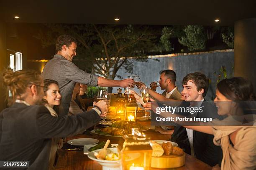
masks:
{"type": "MultiPolygon", "coordinates": [[[[183,105],[188,107],[189,102],[184,102],[183,105]]],[[[203,101],[201,107],[202,112],[198,112],[196,117],[212,117],[212,119],[223,119],[218,115],[215,105],[210,102],[203,101]]],[[[213,143],[213,135],[193,131],[193,148],[195,157],[210,166],[218,164],[222,160],[222,150],[220,146],[216,146],[213,143]]],[[[176,126],[174,133],[172,134],[171,141],[179,144],[181,148],[184,148],[185,152],[191,154],[191,148],[189,146],[189,140],[187,137],[187,130],[183,126],[176,126]]]]}

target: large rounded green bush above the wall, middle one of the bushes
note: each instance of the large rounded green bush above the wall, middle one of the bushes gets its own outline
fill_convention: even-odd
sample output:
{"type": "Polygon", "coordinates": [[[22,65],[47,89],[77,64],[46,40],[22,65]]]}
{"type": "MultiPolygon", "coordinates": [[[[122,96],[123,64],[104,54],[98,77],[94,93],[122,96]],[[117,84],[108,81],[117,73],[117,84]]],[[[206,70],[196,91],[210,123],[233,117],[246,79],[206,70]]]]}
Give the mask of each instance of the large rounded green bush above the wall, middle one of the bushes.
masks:
{"type": "Polygon", "coordinates": [[[187,46],[190,51],[205,49],[207,36],[203,26],[188,25],[184,28],[184,32],[185,36],[179,38],[179,43],[187,46]]]}

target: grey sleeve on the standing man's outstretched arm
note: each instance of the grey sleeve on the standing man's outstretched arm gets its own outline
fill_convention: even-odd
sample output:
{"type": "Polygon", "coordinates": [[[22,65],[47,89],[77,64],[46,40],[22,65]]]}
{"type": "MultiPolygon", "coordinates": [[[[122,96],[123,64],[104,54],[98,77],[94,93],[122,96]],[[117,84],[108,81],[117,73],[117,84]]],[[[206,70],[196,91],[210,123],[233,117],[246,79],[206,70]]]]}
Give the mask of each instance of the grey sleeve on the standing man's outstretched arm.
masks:
{"type": "Polygon", "coordinates": [[[67,62],[64,66],[64,77],[74,82],[97,86],[99,76],[80,70],[73,62],[67,62]]]}

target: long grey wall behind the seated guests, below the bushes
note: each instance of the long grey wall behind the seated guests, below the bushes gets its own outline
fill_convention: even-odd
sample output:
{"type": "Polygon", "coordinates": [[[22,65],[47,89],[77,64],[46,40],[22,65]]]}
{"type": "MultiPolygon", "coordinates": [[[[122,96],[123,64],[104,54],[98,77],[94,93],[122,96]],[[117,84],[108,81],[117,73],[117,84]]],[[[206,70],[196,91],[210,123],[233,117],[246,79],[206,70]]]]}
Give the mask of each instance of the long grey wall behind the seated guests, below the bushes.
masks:
{"type": "MultiPolygon", "coordinates": [[[[141,81],[149,85],[152,81],[159,80],[159,71],[172,69],[177,74],[176,85],[179,91],[182,90],[182,79],[185,75],[191,72],[203,72],[207,77],[210,77],[211,84],[207,92],[207,99],[212,99],[215,95],[215,88],[217,80],[213,74],[215,71],[220,73],[220,67],[225,66],[228,75],[232,73],[232,66],[234,65],[234,52],[214,52],[204,53],[200,55],[181,55],[175,57],[159,57],[160,61],[149,59],[148,62],[136,62],[134,64],[133,75],[139,75],[141,81]]],[[[125,70],[119,70],[118,75],[127,78],[129,73],[125,70]]],[[[116,78],[116,80],[118,80],[116,78]]],[[[113,92],[117,92],[114,87],[113,92]]],[[[158,87],[157,92],[163,92],[158,87]]]]}

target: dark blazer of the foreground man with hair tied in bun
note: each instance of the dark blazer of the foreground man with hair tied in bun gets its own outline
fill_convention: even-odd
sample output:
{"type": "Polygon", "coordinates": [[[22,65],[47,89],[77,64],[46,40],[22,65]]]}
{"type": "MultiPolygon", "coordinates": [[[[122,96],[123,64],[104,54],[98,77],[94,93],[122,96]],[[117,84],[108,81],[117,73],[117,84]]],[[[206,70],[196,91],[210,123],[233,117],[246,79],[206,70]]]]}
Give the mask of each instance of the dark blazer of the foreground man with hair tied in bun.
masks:
{"type": "Polygon", "coordinates": [[[95,110],[53,117],[44,106],[14,103],[0,112],[0,160],[29,161],[28,170],[48,170],[51,138],[76,134],[99,121],[95,110]]]}

